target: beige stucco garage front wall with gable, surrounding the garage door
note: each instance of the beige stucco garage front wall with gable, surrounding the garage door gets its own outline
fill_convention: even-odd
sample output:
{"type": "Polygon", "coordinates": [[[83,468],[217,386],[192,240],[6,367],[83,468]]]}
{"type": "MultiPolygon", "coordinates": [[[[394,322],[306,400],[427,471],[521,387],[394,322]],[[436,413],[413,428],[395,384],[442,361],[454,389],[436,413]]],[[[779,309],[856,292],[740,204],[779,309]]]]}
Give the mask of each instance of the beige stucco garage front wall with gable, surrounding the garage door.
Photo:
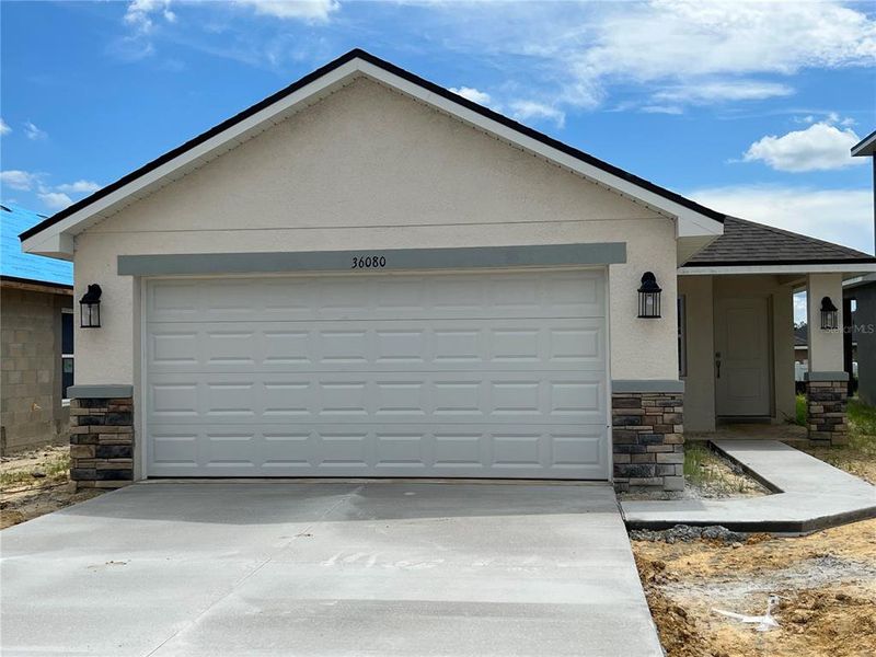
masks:
{"type": "Polygon", "coordinates": [[[77,291],[103,287],[78,382],[131,383],[135,280],[119,254],[623,241],[612,265],[615,379],[675,379],[673,221],[374,82],[358,81],[76,239],[77,291]],[[652,269],[665,318],[636,319],[652,269]]]}

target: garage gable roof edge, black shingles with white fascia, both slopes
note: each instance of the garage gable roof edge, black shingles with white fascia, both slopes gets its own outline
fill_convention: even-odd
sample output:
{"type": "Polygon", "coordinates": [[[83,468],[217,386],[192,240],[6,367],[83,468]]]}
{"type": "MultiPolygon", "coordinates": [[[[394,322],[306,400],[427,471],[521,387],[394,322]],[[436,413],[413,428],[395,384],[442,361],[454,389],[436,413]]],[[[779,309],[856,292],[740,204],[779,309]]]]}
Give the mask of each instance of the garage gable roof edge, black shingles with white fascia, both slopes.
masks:
{"type": "MultiPolygon", "coordinates": [[[[548,135],[523,126],[497,112],[473,103],[434,82],[424,80],[389,61],[360,49],[354,49],[334,61],[304,76],[297,82],[255,105],[220,123],[206,132],[168,151],[140,169],[123,176],[94,194],[25,230],[22,242],[58,227],[56,243],[41,247],[25,244],[28,251],[71,252],[71,242],[62,239],[65,231],[74,231],[93,217],[103,218],[149,192],[146,187],[161,185],[184,175],[177,170],[197,161],[199,164],[230,150],[258,131],[285,118],[299,106],[308,106],[353,79],[368,76],[403,93],[417,97],[443,112],[489,131],[525,149],[572,169],[590,180],[639,200],[669,216],[684,217],[696,227],[690,234],[721,234],[724,215],[689,198],[641,178],[589,153],[565,145],[548,135]],[[233,146],[227,147],[228,142],[233,146]],[[106,215],[100,215],[106,212],[106,215]],[[59,226],[60,224],[60,226],[59,226]]],[[[682,234],[684,231],[679,231],[682,234]]]]}

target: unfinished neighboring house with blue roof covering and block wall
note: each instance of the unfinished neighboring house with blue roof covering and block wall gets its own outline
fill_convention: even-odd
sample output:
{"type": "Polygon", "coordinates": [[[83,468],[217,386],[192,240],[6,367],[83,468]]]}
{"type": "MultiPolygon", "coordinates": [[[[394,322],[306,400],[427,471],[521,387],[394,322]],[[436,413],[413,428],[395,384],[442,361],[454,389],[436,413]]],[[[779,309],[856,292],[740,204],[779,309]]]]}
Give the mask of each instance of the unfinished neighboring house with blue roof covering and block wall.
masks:
{"type": "Polygon", "coordinates": [[[22,253],[45,217],[0,206],[0,453],[67,440],[73,382],[73,266],[22,253]]]}

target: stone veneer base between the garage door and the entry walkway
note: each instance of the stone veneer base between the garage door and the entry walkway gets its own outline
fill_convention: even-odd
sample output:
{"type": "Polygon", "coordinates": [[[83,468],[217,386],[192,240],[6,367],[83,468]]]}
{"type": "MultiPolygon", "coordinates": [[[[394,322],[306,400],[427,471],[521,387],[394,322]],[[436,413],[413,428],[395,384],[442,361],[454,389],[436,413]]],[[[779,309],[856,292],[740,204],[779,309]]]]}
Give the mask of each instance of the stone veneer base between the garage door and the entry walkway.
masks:
{"type": "Polygon", "coordinates": [[[614,487],[684,489],[683,394],[615,392],[611,395],[614,487]]]}

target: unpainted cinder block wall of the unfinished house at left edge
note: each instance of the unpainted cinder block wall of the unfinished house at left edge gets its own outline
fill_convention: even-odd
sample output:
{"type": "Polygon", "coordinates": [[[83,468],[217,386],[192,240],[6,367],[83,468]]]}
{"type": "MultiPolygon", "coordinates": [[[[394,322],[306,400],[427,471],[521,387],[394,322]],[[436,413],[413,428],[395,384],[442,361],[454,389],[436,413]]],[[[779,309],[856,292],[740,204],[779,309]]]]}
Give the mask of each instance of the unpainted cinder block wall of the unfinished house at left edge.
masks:
{"type": "Polygon", "coordinates": [[[64,293],[0,287],[0,453],[67,440],[61,405],[64,293]]]}

